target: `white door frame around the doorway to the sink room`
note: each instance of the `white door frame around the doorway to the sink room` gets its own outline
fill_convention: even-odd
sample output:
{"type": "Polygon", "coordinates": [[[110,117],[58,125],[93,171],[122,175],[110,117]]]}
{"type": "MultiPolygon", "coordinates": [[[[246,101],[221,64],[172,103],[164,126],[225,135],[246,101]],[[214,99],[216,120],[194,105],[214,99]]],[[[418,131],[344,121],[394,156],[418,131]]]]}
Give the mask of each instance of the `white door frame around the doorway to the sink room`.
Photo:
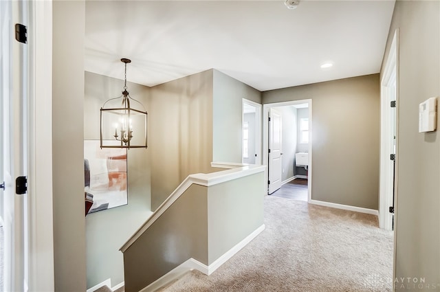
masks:
{"type": "Polygon", "coordinates": [[[263,165],[266,166],[266,172],[265,172],[265,181],[267,183],[269,179],[269,169],[268,169],[268,163],[269,163],[269,126],[268,126],[268,120],[269,120],[269,109],[272,107],[278,107],[278,106],[291,106],[296,104],[308,104],[309,108],[309,174],[308,174],[308,181],[307,181],[307,190],[308,190],[308,196],[307,201],[310,203],[311,201],[311,181],[312,181],[312,175],[313,175],[313,168],[312,168],[312,145],[313,145],[313,128],[312,128],[312,106],[311,106],[311,99],[307,100],[291,100],[287,102],[274,102],[274,103],[268,103],[263,104],[263,165]]]}

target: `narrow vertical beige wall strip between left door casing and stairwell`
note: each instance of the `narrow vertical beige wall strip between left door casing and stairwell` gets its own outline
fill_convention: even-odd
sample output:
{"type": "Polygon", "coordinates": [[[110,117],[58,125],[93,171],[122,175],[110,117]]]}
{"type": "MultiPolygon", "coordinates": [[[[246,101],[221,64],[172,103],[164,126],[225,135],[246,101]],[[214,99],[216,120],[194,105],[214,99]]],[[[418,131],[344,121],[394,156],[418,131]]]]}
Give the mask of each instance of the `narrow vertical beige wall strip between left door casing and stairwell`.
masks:
{"type": "Polygon", "coordinates": [[[52,169],[55,291],[86,290],[84,25],[84,1],[53,2],[52,169]]]}

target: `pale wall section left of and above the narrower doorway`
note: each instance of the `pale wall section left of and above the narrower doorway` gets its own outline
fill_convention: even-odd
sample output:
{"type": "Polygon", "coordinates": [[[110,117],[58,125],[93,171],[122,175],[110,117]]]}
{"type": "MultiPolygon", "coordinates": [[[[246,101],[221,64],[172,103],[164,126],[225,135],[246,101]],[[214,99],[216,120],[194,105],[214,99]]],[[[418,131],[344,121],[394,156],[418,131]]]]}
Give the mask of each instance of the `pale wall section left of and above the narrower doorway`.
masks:
{"type": "Polygon", "coordinates": [[[213,71],[212,161],[241,163],[243,98],[261,104],[261,92],[220,71],[213,71]]]}

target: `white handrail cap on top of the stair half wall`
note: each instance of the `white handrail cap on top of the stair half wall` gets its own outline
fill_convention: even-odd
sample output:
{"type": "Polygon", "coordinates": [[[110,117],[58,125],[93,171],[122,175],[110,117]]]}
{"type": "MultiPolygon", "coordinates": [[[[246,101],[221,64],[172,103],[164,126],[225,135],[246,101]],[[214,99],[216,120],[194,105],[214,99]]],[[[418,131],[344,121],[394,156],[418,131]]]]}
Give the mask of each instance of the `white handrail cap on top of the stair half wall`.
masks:
{"type": "Polygon", "coordinates": [[[239,179],[240,177],[248,177],[249,175],[254,175],[259,172],[263,172],[266,166],[260,165],[245,165],[242,164],[228,164],[228,163],[212,163],[212,166],[221,168],[230,168],[228,170],[222,170],[219,172],[212,173],[197,173],[195,175],[188,175],[184,181],[175,189],[175,191],[168,196],[168,198],[157,207],[157,210],[151,215],[146,222],[129,238],[129,240],[122,245],[119,249],[124,252],[128,249],[140,236],[159,218],[164,212],[173,205],[173,203],[179,199],[179,196],[184,194],[184,192],[195,183],[200,186],[214,186],[218,183],[224,183],[225,181],[232,181],[232,179],[239,179]],[[215,166],[214,166],[215,165],[215,166]]]}

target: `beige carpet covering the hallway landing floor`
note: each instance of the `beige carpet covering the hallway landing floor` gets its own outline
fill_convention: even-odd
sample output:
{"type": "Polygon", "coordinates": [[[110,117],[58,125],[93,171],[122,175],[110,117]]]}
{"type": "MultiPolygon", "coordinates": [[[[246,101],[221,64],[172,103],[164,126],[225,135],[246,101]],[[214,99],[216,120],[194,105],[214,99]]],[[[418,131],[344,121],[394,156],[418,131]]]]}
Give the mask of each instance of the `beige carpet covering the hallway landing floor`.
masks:
{"type": "Polygon", "coordinates": [[[266,196],[265,225],[210,276],[191,271],[160,291],[392,290],[393,232],[376,216],[266,196]]]}

